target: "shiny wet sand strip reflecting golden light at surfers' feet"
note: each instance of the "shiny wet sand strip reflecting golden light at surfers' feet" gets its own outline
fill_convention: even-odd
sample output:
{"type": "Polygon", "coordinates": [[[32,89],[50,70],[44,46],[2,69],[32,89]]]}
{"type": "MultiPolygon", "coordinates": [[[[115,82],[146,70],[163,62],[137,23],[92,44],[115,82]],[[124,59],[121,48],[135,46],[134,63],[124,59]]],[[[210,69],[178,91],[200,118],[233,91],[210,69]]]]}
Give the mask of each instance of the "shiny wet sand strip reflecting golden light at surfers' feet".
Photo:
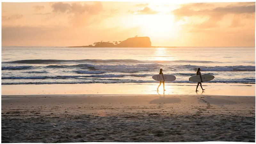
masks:
{"type": "Polygon", "coordinates": [[[100,94],[100,95],[227,95],[227,96],[255,96],[255,84],[211,84],[204,83],[204,92],[196,84],[175,84],[166,83],[163,91],[163,85],[156,88],[158,83],[144,84],[16,84],[2,85],[2,95],[56,95],[56,94],[100,94]]]}

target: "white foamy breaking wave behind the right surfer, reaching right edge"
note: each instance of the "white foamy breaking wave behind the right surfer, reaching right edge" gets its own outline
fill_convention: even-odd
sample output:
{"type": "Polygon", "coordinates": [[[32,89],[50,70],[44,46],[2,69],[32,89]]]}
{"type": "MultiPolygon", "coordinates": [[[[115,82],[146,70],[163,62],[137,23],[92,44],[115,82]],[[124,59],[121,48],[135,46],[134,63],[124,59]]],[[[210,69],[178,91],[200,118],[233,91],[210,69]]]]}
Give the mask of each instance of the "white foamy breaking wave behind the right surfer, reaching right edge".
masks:
{"type": "Polygon", "coordinates": [[[255,66],[195,66],[195,65],[182,65],[177,66],[179,69],[188,69],[196,71],[197,68],[201,68],[201,71],[255,71],[255,66]]]}

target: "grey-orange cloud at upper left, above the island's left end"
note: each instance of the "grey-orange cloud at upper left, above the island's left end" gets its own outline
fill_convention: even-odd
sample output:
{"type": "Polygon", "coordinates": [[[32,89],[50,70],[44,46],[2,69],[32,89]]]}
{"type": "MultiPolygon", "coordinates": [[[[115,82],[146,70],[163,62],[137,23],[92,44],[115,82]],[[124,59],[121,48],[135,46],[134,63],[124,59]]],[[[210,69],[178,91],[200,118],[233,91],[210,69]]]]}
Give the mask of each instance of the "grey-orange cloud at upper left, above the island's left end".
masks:
{"type": "Polygon", "coordinates": [[[84,5],[79,2],[72,4],[58,2],[52,3],[51,7],[53,13],[69,14],[69,23],[74,27],[88,26],[104,20],[101,19],[103,17],[100,15],[100,12],[104,11],[100,2],[84,5]]]}

